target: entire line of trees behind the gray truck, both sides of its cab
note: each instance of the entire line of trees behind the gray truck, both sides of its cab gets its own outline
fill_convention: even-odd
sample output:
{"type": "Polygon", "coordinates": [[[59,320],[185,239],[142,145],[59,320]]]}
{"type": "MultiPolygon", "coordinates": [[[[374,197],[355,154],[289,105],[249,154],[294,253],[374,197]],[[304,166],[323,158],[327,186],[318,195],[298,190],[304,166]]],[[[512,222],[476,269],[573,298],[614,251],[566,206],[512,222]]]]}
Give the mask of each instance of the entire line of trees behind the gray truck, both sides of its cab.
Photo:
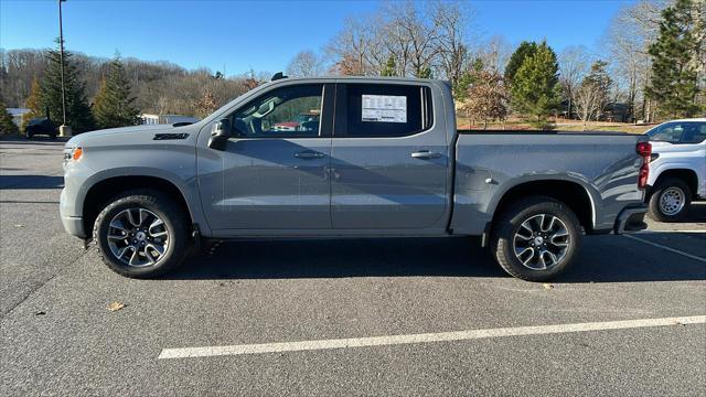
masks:
{"type": "MultiPolygon", "coordinates": [[[[448,79],[458,110],[483,126],[511,114],[546,127],[550,116],[650,122],[706,109],[705,0],[625,4],[597,52],[557,54],[532,41],[513,47],[502,36],[482,37],[474,18],[463,1],[385,2],[346,19],[325,47],[298,53],[287,73],[448,79]]],[[[55,50],[1,51],[0,98],[36,115],[50,108],[61,120],[60,66],[55,50]]],[[[65,66],[67,118],[77,131],[133,124],[140,111],[203,117],[269,77],[71,53],[65,66]]]]}

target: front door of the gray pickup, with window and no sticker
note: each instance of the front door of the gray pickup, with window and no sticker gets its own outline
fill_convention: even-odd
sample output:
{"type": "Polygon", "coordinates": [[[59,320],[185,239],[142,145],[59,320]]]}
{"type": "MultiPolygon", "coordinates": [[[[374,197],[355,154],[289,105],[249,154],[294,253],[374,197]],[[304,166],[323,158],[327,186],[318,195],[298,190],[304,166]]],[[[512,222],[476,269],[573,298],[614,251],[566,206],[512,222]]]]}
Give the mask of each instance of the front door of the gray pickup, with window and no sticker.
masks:
{"type": "Polygon", "coordinates": [[[331,227],[328,107],[333,89],[286,85],[228,117],[235,135],[225,150],[199,159],[200,191],[213,230],[245,235],[331,227]]]}

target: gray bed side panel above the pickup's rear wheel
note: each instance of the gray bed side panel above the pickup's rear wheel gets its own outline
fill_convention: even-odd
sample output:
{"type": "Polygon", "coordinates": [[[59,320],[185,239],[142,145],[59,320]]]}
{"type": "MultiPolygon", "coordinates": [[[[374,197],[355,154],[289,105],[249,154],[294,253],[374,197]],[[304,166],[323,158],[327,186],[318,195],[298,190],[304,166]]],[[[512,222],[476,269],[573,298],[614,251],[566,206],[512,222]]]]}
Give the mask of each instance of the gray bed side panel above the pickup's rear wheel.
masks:
{"type": "Polygon", "coordinates": [[[570,181],[591,201],[593,229],[613,227],[619,212],[640,203],[637,136],[588,133],[463,133],[456,154],[454,234],[480,235],[504,193],[523,183],[570,181]]]}

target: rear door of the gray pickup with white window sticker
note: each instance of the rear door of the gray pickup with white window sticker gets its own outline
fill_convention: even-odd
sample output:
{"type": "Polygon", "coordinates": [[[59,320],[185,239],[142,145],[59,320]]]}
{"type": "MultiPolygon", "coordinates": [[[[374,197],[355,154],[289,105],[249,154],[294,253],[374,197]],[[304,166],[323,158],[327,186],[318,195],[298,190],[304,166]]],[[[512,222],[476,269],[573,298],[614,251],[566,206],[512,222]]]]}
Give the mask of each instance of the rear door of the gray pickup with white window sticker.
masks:
{"type": "Polygon", "coordinates": [[[443,229],[447,137],[424,84],[339,83],[331,148],[334,229],[443,229]]]}

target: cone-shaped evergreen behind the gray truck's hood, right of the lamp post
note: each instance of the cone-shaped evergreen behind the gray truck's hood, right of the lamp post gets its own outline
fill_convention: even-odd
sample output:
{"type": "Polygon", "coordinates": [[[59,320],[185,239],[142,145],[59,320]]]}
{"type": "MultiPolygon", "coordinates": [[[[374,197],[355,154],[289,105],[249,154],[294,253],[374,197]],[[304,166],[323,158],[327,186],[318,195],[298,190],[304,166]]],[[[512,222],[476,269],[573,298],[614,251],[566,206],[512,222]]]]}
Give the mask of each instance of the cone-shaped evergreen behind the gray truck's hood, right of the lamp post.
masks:
{"type": "Polygon", "coordinates": [[[140,111],[135,107],[120,56],[110,62],[108,76],[100,82],[100,89],[94,100],[93,111],[98,128],[135,126],[140,111]]]}

